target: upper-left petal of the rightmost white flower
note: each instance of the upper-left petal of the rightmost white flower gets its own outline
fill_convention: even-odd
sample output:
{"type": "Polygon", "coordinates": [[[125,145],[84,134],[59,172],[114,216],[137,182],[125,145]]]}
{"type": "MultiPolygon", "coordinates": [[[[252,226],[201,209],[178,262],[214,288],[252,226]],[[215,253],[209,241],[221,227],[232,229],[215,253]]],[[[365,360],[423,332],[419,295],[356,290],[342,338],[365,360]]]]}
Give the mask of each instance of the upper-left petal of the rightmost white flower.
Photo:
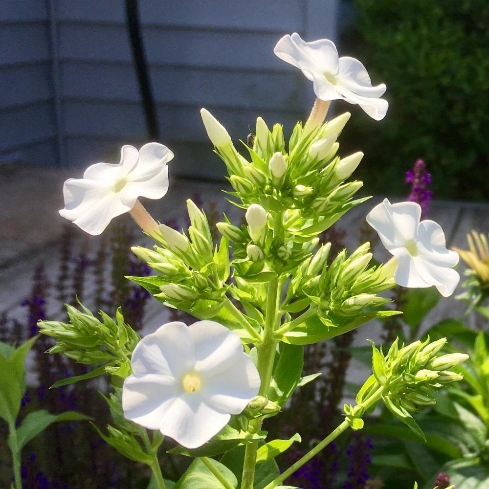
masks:
{"type": "Polygon", "coordinates": [[[416,202],[391,204],[387,199],[376,205],[366,218],[391,252],[405,246],[408,240],[416,240],[420,219],[421,207],[416,202]]]}

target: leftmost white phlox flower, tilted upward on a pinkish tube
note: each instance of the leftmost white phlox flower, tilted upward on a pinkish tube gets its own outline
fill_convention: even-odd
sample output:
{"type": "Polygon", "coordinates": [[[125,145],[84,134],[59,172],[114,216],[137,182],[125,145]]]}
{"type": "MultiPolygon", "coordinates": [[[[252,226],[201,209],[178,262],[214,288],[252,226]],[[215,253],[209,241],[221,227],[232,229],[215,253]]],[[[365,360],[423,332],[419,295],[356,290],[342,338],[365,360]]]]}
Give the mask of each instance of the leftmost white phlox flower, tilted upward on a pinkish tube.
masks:
{"type": "Polygon", "coordinates": [[[139,151],[123,146],[119,164],[95,163],[83,178],[67,179],[65,207],[59,213],[85,232],[101,234],[113,218],[131,211],[138,197],[161,199],[167,193],[167,163],[173,157],[159,143],[145,144],[139,151]]]}

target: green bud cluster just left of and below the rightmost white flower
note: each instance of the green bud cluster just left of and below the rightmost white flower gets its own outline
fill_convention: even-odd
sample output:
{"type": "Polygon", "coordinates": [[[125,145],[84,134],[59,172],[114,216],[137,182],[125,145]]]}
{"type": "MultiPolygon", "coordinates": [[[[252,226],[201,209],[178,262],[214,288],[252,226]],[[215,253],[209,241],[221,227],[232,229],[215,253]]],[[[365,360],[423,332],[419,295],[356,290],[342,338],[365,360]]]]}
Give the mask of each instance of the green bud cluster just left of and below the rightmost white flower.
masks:
{"type": "Polygon", "coordinates": [[[349,257],[346,250],[341,251],[328,265],[330,248],[330,243],[322,245],[294,272],[287,289],[288,300],[295,298],[291,303],[291,307],[296,304],[294,312],[311,301],[321,321],[331,326],[332,314],[354,316],[389,302],[377,293],[394,287],[394,261],[369,267],[372,253],[370,243],[365,243],[349,257]]]}

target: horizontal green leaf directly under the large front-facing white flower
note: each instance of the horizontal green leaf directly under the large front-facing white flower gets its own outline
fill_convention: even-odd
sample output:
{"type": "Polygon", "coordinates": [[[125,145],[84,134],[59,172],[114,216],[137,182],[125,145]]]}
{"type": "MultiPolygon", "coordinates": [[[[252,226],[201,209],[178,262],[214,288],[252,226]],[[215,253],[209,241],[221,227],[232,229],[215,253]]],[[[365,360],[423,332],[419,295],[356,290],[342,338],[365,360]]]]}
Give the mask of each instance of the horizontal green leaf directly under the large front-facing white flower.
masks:
{"type": "Polygon", "coordinates": [[[266,435],[261,433],[246,433],[245,431],[239,431],[231,426],[224,426],[222,430],[211,440],[199,448],[185,448],[184,446],[176,446],[167,453],[186,455],[188,457],[214,457],[221,453],[227,452],[231,448],[237,445],[247,444],[251,442],[258,442],[265,440],[266,435]]]}

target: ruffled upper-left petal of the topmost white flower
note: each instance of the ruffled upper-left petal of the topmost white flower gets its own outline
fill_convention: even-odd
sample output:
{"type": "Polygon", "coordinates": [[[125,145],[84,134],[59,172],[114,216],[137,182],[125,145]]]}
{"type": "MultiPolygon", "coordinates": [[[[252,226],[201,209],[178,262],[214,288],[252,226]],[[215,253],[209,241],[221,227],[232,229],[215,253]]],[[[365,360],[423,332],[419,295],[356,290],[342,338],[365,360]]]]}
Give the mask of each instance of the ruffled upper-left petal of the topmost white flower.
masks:
{"type": "Polygon", "coordinates": [[[329,39],[306,43],[299,34],[287,34],[275,45],[273,52],[283,61],[301,69],[310,80],[311,73],[338,72],[338,51],[329,39]]]}

